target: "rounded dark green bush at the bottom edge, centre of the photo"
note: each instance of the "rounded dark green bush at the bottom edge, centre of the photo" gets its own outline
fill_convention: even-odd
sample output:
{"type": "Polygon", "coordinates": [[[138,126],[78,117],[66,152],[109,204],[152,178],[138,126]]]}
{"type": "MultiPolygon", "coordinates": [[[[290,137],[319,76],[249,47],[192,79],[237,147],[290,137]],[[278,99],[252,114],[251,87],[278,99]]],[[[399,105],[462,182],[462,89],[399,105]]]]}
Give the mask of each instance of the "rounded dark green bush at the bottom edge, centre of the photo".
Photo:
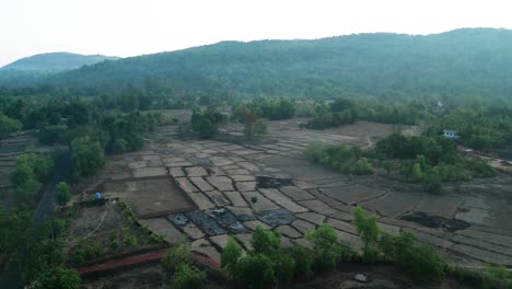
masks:
{"type": "Polygon", "coordinates": [[[264,254],[248,254],[236,263],[235,280],[243,288],[265,288],[266,284],[275,281],[272,262],[264,254]]]}

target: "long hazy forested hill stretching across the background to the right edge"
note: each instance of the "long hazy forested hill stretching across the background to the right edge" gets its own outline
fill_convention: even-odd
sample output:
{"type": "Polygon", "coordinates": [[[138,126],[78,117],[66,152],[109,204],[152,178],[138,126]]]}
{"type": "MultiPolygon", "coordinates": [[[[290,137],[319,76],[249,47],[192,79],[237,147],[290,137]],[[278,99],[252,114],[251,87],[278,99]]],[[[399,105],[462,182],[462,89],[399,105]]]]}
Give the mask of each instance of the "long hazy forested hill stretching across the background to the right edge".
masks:
{"type": "Polygon", "coordinates": [[[89,93],[139,86],[190,95],[480,95],[512,97],[512,31],[427,36],[358,34],[314,41],[222,42],[105,61],[38,84],[89,93]]]}

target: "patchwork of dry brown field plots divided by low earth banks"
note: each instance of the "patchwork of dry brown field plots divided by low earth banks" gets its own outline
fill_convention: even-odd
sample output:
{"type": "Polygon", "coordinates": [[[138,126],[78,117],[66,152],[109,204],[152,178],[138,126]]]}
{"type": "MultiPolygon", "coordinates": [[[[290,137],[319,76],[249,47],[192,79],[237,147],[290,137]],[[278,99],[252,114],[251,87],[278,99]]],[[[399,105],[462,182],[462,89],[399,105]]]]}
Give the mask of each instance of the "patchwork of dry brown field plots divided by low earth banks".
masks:
{"type": "MultiPolygon", "coordinates": [[[[449,262],[512,266],[510,176],[453,184],[447,194],[435,196],[422,193],[417,185],[379,175],[342,175],[302,155],[312,141],[371,146],[392,130],[387,127],[384,134],[383,128],[375,129],[369,123],[359,126],[340,135],[336,130],[299,130],[296,123],[276,122],[270,125],[269,141],[263,144],[181,140],[176,127],[162,127],[146,150],[109,158],[103,174],[89,180],[82,189],[91,193],[116,180],[168,177],[197,209],[168,213],[168,208],[155,207],[152,217],[142,216],[141,222],[171,243],[185,234],[191,240],[193,251],[216,261],[230,234],[249,250],[251,232],[258,224],[281,232],[283,246],[310,246],[304,233],[329,223],[340,242],[358,248],[361,241],[352,210],[360,205],[379,216],[383,231],[414,232],[420,241],[437,246],[449,262]],[[368,134],[362,131],[365,128],[368,134]]],[[[241,128],[228,127],[224,132],[237,136],[241,128]]],[[[126,192],[137,190],[140,199],[144,192],[154,194],[154,186],[144,187],[135,184],[126,192]]],[[[105,186],[103,193],[124,198],[124,192],[109,192],[105,186]]],[[[163,189],[158,196],[172,198],[173,192],[163,189]]],[[[132,194],[130,198],[133,200],[132,194]]]]}

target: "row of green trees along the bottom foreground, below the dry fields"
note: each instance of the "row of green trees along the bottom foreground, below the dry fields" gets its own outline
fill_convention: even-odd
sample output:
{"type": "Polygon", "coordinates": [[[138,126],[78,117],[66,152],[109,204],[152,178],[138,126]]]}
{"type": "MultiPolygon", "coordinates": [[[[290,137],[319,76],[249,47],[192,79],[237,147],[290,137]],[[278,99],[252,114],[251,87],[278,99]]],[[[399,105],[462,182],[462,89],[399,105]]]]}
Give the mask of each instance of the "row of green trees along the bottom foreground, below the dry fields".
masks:
{"type": "MultiPolygon", "coordinates": [[[[233,288],[277,288],[305,282],[315,276],[339,269],[347,263],[393,263],[414,285],[437,285],[446,276],[481,288],[508,288],[512,280],[503,266],[470,270],[445,264],[437,250],[418,242],[412,233],[392,235],[381,231],[377,217],[366,216],[361,207],[353,210],[353,223],[362,247],[352,248],[339,239],[329,224],[306,232],[310,246],[281,246],[280,233],[256,227],[251,248],[244,251],[229,236],[221,254],[221,269],[233,288]]],[[[162,258],[174,288],[208,288],[207,274],[195,266],[188,243],[168,250],[162,258]]]]}

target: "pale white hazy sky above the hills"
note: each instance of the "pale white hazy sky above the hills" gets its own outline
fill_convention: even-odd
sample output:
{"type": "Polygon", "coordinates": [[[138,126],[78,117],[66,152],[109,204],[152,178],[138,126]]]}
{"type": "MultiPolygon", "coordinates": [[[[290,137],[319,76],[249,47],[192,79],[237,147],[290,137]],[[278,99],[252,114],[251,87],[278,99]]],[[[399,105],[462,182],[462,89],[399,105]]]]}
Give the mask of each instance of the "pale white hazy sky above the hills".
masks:
{"type": "Polygon", "coordinates": [[[0,66],[50,51],[126,57],[220,41],[512,28],[511,11],[507,0],[0,0],[0,66]]]}

